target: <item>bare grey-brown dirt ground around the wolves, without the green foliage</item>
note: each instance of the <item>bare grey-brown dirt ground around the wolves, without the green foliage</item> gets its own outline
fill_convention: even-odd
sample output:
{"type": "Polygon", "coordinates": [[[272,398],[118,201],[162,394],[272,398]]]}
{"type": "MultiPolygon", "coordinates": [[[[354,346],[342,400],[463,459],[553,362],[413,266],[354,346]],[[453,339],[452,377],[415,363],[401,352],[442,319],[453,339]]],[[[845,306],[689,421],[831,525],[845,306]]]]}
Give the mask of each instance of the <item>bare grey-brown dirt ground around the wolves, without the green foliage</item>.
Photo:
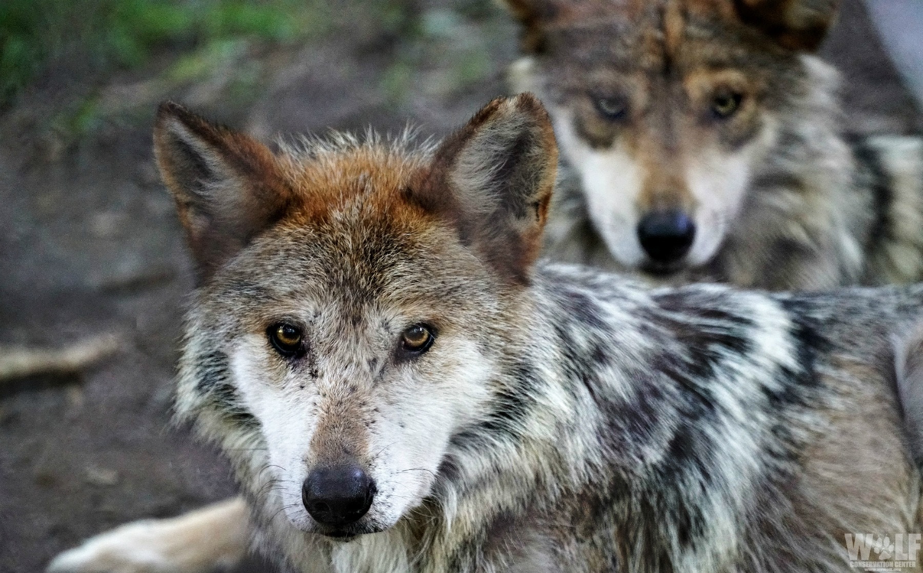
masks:
{"type": "MultiPolygon", "coordinates": [[[[356,19],[343,33],[250,54],[266,66],[245,106],[225,105],[208,85],[166,95],[260,137],[328,126],[395,131],[408,121],[445,134],[505,92],[503,69],[516,54],[509,19],[477,6],[419,4],[415,18],[429,31],[413,39],[356,19]]],[[[858,0],[845,2],[822,54],[845,72],[853,128],[923,131],[858,0]]],[[[115,94],[149,86],[138,74],[113,82],[115,94]]],[[[36,109],[66,90],[36,90],[36,109]]],[[[40,571],[120,523],[234,495],[215,451],[170,425],[192,283],[151,160],[150,124],[109,125],[66,145],[22,125],[0,117],[0,345],[60,347],[112,334],[118,351],[79,376],[0,386],[0,571],[11,573],[40,571]]],[[[271,569],[254,561],[240,570],[271,569]]]]}

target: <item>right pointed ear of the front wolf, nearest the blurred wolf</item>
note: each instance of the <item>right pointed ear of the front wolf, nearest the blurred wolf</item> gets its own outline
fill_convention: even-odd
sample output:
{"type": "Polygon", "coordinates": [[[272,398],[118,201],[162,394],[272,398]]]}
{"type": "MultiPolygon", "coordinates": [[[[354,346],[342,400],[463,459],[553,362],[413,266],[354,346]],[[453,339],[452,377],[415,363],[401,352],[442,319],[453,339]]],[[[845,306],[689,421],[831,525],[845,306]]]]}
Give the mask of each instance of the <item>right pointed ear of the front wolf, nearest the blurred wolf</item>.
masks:
{"type": "Polygon", "coordinates": [[[541,249],[556,174],[548,114],[523,93],[491,101],[448,137],[411,193],[501,276],[525,283],[541,249]]]}

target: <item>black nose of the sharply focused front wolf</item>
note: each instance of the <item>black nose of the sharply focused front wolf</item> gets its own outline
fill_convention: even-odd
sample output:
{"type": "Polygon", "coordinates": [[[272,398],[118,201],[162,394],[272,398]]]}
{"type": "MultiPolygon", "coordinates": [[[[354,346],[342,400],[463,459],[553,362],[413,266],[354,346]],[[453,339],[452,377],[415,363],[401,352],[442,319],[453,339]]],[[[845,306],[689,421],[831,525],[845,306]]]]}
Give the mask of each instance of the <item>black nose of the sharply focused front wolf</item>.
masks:
{"type": "Polygon", "coordinates": [[[301,487],[307,512],[318,523],[342,527],[366,515],[375,483],[354,463],[316,468],[301,487]]]}

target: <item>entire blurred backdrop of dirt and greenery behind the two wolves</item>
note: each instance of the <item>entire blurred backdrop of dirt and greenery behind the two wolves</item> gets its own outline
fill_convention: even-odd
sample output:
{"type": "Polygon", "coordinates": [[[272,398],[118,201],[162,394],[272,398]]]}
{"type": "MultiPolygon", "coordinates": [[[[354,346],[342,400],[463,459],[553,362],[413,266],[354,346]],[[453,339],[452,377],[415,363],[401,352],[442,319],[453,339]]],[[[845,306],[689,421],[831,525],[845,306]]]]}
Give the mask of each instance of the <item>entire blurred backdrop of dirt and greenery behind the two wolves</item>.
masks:
{"type": "MultiPolygon", "coordinates": [[[[919,29],[869,18],[890,1],[844,0],[821,49],[857,133],[923,132],[876,26],[917,48],[919,29]]],[[[192,281],[157,103],[264,138],[439,136],[506,92],[516,54],[490,0],[0,0],[0,571],[234,494],[169,424],[192,281]]]]}

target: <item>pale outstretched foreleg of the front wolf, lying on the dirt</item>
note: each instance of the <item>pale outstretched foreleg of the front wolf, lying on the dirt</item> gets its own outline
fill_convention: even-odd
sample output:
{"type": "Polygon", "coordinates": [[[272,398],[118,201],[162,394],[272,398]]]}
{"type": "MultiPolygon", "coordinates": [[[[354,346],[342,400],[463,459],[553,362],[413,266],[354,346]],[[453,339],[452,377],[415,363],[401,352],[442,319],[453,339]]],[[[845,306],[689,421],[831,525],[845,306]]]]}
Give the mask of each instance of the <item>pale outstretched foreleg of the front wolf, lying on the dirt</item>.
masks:
{"type": "Polygon", "coordinates": [[[172,519],[145,519],[54,558],[48,573],[199,573],[234,567],[250,535],[243,497],[172,519]]]}

